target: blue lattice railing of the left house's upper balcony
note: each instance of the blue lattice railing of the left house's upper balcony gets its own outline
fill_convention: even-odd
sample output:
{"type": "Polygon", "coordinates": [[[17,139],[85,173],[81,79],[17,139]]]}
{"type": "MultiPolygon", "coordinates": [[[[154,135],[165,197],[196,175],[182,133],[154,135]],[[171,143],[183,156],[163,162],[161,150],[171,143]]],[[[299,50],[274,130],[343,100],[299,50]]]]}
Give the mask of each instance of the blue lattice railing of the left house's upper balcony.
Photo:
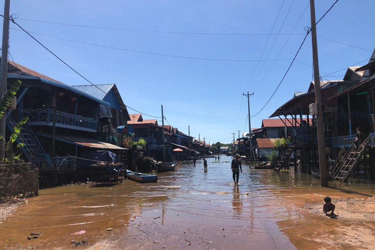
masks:
{"type": "MultiPolygon", "coordinates": [[[[53,124],[52,108],[31,108],[21,109],[23,116],[29,118],[29,125],[49,125],[53,124]]],[[[96,132],[97,121],[92,118],[73,115],[61,111],[56,111],[56,126],[96,132]]]]}

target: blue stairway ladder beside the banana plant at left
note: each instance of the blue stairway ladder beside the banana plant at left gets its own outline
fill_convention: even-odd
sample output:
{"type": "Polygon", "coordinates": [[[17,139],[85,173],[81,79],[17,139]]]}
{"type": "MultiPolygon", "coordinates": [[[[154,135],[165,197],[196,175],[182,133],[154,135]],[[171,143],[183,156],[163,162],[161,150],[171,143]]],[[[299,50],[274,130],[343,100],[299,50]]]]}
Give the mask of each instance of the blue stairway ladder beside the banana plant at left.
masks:
{"type": "MultiPolygon", "coordinates": [[[[14,126],[16,124],[17,123],[13,120],[13,118],[11,116],[8,116],[8,118],[6,119],[6,125],[11,132],[13,132],[14,126]]],[[[42,145],[40,144],[33,130],[27,123],[22,125],[21,132],[18,135],[16,142],[18,144],[23,144],[23,146],[21,146],[21,150],[29,161],[33,157],[34,150],[36,150],[36,153],[38,155],[45,154],[42,145]]]]}

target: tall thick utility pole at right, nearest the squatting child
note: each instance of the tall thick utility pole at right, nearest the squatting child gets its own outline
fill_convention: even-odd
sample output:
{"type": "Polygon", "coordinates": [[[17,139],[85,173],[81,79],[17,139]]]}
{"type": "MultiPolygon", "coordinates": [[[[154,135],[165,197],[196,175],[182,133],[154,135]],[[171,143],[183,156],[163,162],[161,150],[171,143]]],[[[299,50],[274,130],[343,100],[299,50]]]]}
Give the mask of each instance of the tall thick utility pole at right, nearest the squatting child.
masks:
{"type": "Polygon", "coordinates": [[[311,12],[311,38],[312,38],[312,62],[314,68],[314,92],[315,102],[318,106],[317,114],[317,133],[318,133],[318,154],[319,154],[319,168],[320,168],[320,185],[328,187],[327,174],[327,159],[324,143],[324,125],[323,125],[323,108],[322,96],[320,93],[320,75],[319,75],[319,60],[318,60],[318,42],[316,40],[316,21],[315,21],[315,2],[310,0],[311,12]]]}

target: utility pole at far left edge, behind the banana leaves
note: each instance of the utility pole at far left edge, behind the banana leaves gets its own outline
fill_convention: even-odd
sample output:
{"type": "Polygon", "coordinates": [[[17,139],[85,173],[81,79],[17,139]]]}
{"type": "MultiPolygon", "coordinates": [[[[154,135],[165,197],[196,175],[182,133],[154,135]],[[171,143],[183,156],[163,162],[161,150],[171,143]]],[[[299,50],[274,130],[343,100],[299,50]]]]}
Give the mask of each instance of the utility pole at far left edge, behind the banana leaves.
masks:
{"type": "MultiPolygon", "coordinates": [[[[8,77],[8,41],[9,41],[9,9],[10,0],[4,3],[4,20],[2,24],[1,64],[0,64],[0,99],[5,95],[8,77]]],[[[0,135],[5,140],[5,115],[0,120],[0,135]]],[[[0,142],[0,159],[4,158],[5,142],[0,142]]]]}

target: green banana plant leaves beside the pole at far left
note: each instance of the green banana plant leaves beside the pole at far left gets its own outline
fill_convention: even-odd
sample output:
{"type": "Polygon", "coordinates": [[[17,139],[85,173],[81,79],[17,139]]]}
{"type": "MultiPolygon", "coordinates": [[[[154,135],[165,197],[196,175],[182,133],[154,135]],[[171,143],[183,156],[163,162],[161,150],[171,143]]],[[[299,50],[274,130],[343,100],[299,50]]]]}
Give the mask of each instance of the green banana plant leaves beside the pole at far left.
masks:
{"type": "MultiPolygon", "coordinates": [[[[15,83],[13,83],[8,91],[6,91],[4,97],[2,98],[0,102],[0,119],[6,114],[6,110],[9,108],[13,98],[16,96],[17,91],[21,87],[21,81],[17,80],[15,83]]],[[[20,155],[14,156],[13,155],[13,143],[17,140],[18,135],[21,132],[22,125],[24,125],[27,122],[28,118],[24,117],[22,118],[13,129],[12,134],[9,137],[9,141],[6,143],[5,139],[0,135],[0,141],[3,143],[6,143],[5,146],[5,158],[3,161],[5,162],[13,162],[14,160],[19,160],[20,155]]],[[[18,144],[17,147],[23,146],[22,144],[18,144]]]]}

